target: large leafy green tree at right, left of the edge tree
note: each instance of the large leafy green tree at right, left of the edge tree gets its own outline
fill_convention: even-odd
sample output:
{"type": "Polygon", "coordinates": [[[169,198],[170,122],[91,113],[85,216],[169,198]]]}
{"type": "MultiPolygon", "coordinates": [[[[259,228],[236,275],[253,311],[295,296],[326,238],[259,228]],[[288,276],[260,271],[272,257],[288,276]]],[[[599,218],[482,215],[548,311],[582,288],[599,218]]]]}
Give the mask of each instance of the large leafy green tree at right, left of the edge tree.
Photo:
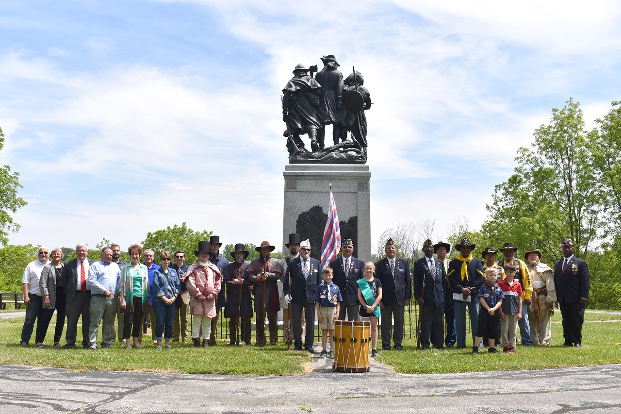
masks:
{"type": "Polygon", "coordinates": [[[482,232],[496,244],[537,247],[550,261],[570,237],[584,255],[597,237],[601,205],[579,103],[569,98],[553,108],[534,137],[532,149],[519,149],[515,174],[496,186],[482,232]]]}

